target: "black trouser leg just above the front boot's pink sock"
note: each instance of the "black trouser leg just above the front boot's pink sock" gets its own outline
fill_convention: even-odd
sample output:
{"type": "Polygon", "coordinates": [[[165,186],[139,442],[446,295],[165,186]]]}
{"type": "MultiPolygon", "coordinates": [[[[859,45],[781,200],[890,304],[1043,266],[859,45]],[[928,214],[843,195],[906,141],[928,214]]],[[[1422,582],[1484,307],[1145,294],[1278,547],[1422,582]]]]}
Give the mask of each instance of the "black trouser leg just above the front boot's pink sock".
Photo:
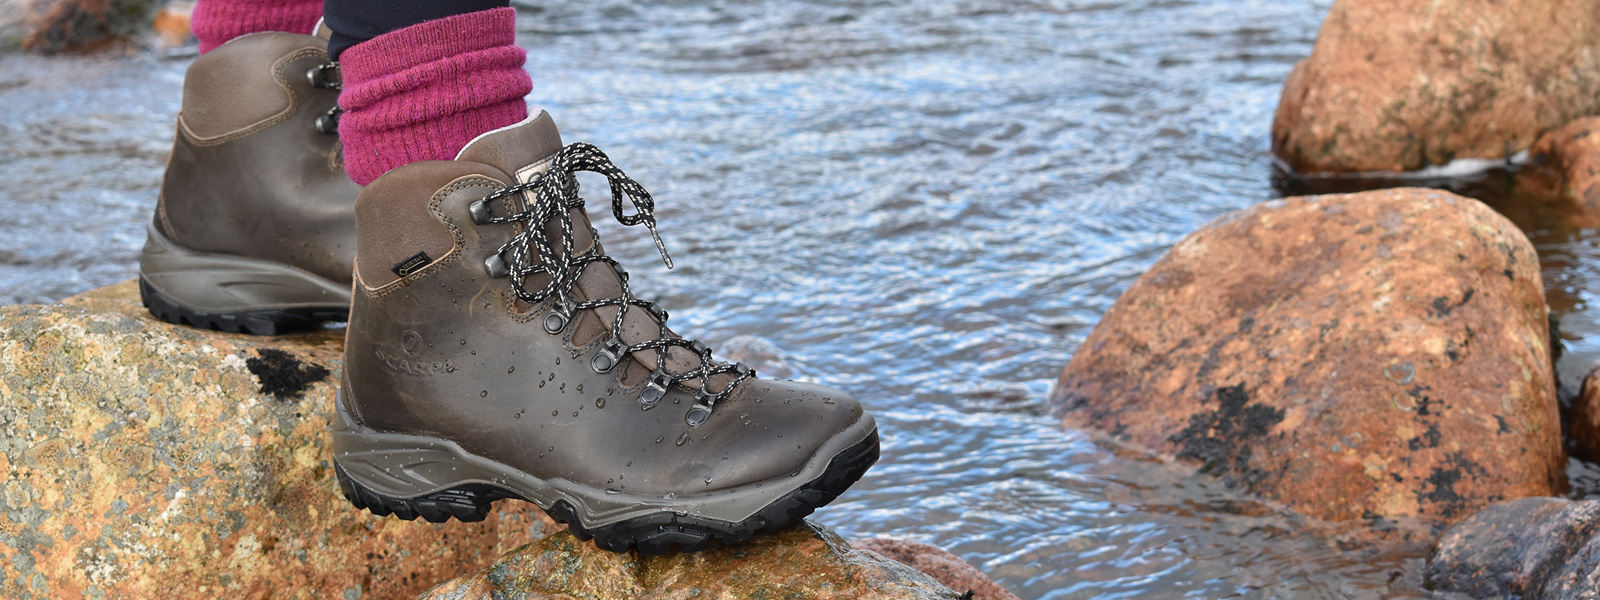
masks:
{"type": "Polygon", "coordinates": [[[322,18],[333,29],[328,56],[422,21],[510,6],[510,0],[325,0],[322,18]]]}

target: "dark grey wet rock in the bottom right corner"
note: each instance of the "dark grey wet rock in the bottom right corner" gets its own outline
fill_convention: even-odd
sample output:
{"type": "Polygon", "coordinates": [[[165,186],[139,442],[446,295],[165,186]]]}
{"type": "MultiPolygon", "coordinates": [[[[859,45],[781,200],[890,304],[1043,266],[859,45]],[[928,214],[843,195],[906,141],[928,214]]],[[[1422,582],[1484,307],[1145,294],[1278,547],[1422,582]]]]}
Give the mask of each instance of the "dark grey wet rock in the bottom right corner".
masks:
{"type": "Polygon", "coordinates": [[[1427,586],[1475,598],[1594,598],[1600,502],[1523,498],[1490,506],[1438,538],[1427,586]]]}

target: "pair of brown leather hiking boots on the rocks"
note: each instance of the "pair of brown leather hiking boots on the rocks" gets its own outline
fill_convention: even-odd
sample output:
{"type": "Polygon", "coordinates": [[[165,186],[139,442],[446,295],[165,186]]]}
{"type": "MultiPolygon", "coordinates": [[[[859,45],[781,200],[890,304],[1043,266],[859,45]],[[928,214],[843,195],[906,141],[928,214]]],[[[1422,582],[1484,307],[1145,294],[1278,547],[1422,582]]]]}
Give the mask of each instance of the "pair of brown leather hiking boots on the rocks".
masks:
{"type": "Polygon", "coordinates": [[[877,461],[848,394],[717,362],[634,296],[574,173],[654,235],[650,194],[547,114],[362,189],[336,101],[322,37],[198,58],[139,291],[162,320],[235,333],[347,318],[333,454],[357,507],[472,522],[518,498],[603,549],[662,554],[781,528],[877,461]]]}

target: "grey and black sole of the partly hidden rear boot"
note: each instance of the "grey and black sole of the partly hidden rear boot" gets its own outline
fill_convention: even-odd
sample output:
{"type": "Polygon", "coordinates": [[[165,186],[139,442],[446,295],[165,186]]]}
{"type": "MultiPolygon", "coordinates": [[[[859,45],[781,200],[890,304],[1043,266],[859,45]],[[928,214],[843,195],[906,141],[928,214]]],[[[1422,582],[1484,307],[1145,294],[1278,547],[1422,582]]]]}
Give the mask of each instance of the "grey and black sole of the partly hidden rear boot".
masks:
{"type": "Polygon", "coordinates": [[[350,315],[350,286],[243,256],[197,253],[146,226],[139,299],[155,318],[202,330],[277,336],[350,315]]]}

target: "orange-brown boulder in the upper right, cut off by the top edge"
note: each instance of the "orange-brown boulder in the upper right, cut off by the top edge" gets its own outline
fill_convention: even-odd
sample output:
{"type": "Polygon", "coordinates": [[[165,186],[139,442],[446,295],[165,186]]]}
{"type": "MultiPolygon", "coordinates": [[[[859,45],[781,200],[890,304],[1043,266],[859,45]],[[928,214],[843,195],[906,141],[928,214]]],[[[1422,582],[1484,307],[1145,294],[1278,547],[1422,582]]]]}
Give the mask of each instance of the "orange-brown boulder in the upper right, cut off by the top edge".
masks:
{"type": "Polygon", "coordinates": [[[1502,158],[1600,114],[1600,0],[1336,0],[1272,147],[1301,173],[1502,158]]]}

